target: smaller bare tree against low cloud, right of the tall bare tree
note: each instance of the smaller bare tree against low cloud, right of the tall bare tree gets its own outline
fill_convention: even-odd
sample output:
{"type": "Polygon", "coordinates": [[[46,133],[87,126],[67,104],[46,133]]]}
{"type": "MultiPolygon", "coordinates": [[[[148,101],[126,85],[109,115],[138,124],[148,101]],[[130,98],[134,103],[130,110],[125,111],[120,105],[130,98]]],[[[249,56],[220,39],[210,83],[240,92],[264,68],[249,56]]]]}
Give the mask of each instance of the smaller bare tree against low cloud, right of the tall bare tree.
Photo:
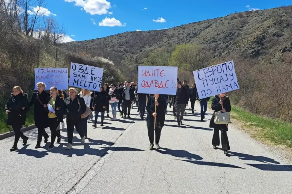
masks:
{"type": "Polygon", "coordinates": [[[45,43],[56,45],[61,43],[65,37],[65,30],[63,25],[60,26],[53,17],[44,19],[44,35],[43,40],[45,43]]]}

